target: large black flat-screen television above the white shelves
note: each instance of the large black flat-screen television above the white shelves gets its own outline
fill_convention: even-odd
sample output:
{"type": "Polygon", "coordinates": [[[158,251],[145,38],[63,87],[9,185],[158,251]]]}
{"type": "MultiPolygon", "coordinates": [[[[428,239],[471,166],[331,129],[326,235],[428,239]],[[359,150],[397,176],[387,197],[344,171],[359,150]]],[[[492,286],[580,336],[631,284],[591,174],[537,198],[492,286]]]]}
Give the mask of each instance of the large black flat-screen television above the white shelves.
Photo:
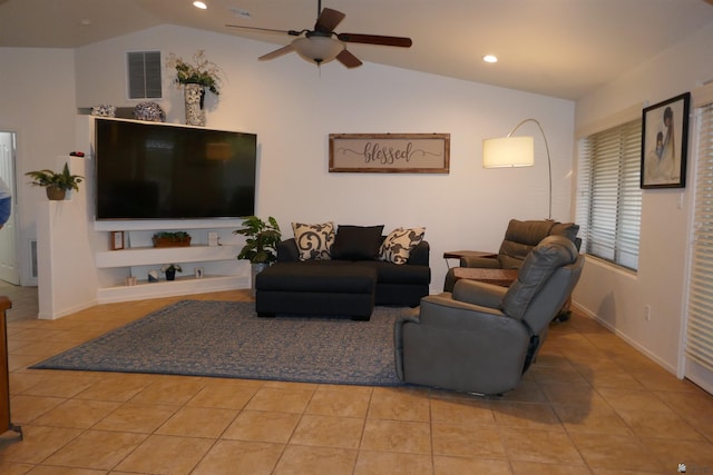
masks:
{"type": "Polygon", "coordinates": [[[97,118],[96,218],[254,215],[256,142],[254,133],[97,118]]]}

